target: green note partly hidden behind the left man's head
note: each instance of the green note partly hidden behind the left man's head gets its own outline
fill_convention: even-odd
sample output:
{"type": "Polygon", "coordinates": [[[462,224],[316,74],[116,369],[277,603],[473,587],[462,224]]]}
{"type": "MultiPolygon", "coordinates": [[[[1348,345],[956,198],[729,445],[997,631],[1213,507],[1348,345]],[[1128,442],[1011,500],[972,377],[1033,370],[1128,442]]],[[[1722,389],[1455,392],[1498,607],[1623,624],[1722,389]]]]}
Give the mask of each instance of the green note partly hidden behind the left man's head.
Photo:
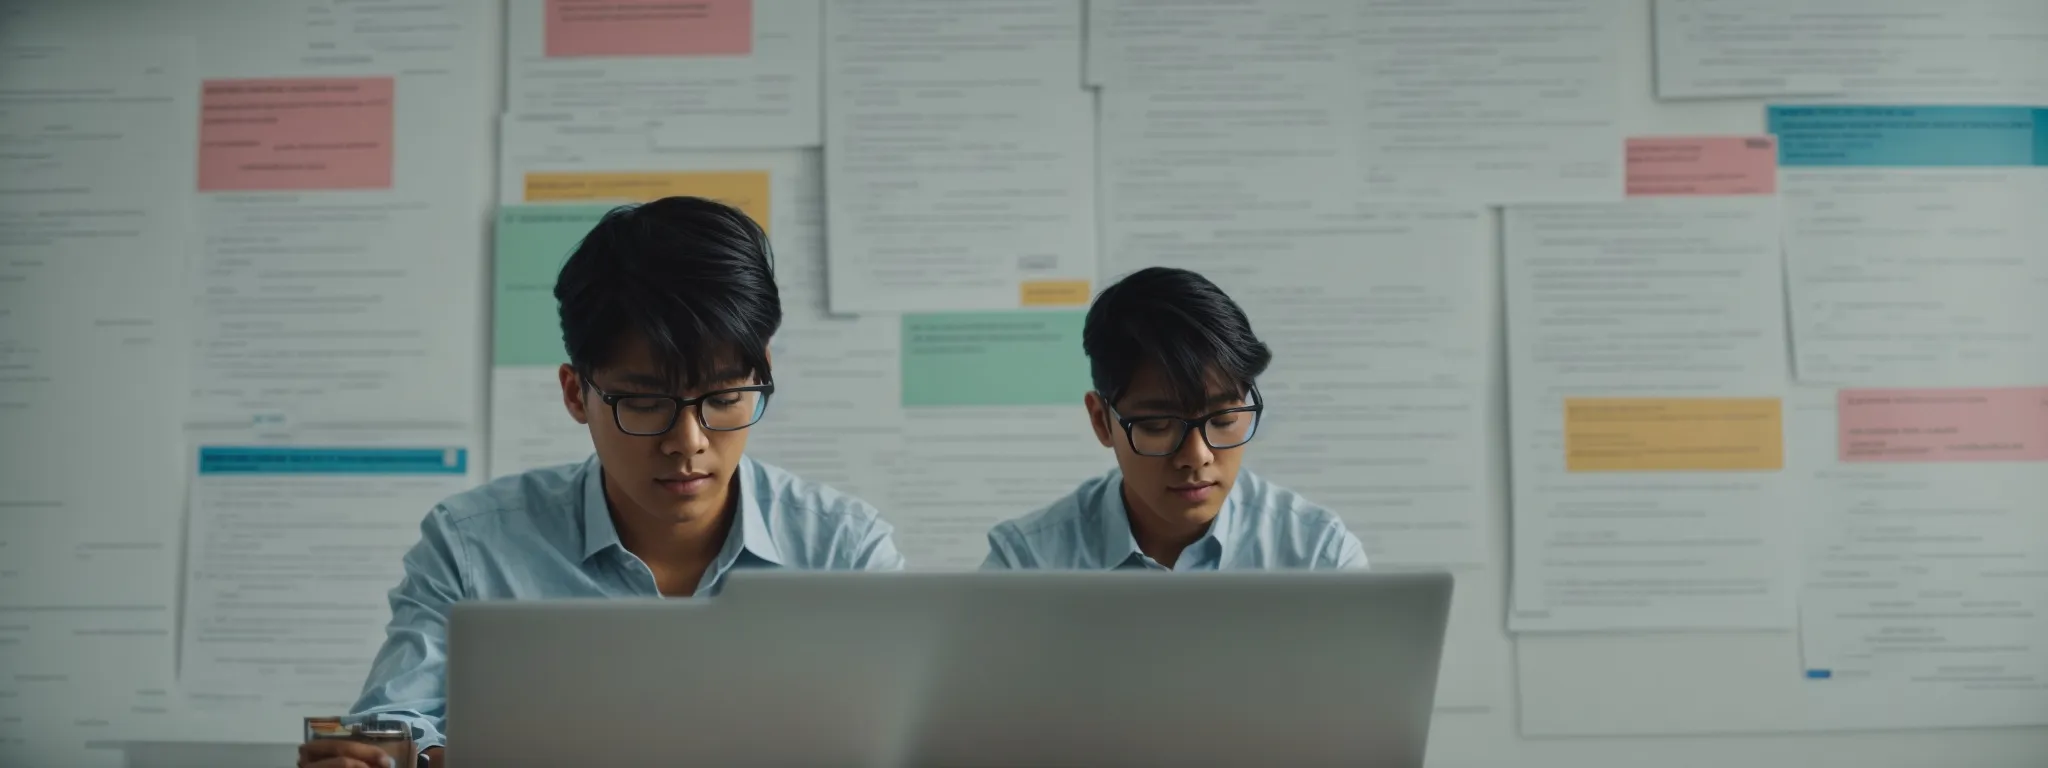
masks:
{"type": "Polygon", "coordinates": [[[492,365],[561,365],[555,276],[610,205],[506,205],[492,254],[492,365]]]}

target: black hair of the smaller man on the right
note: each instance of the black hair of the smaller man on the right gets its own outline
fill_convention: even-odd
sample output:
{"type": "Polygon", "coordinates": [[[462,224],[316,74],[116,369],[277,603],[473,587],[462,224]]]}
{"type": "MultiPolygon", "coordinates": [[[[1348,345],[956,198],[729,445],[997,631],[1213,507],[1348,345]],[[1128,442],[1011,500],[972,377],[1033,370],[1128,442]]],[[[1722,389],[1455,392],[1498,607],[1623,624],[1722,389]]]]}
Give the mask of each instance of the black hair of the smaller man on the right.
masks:
{"type": "Polygon", "coordinates": [[[1206,276],[1169,266],[1147,266],[1104,289],[1087,307],[1081,350],[1110,403],[1155,362],[1190,414],[1206,410],[1214,377],[1243,393],[1274,358],[1237,301],[1206,276]]]}

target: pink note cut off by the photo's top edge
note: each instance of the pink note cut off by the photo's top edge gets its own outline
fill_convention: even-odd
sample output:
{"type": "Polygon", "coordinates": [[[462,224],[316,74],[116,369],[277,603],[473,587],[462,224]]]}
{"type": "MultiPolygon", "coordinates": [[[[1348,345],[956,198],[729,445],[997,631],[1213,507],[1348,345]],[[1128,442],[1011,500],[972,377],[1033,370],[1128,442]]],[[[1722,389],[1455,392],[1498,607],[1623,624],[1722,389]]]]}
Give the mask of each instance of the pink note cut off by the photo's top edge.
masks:
{"type": "Polygon", "coordinates": [[[547,0],[547,55],[748,55],[754,0],[547,0]]]}

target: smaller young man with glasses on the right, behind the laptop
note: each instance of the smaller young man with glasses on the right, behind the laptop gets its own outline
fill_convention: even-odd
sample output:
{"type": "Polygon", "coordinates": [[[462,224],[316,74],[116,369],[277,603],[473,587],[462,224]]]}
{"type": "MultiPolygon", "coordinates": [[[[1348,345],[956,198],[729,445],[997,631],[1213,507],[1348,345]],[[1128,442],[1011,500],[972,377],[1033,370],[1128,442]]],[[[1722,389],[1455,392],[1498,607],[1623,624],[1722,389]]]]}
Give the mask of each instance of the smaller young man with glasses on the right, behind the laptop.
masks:
{"type": "Polygon", "coordinates": [[[1272,362],[1251,322],[1208,279],[1145,268],[1102,291],[1081,346],[1108,475],[989,530],[985,569],[1366,567],[1329,510],[1239,465],[1272,362]]]}

